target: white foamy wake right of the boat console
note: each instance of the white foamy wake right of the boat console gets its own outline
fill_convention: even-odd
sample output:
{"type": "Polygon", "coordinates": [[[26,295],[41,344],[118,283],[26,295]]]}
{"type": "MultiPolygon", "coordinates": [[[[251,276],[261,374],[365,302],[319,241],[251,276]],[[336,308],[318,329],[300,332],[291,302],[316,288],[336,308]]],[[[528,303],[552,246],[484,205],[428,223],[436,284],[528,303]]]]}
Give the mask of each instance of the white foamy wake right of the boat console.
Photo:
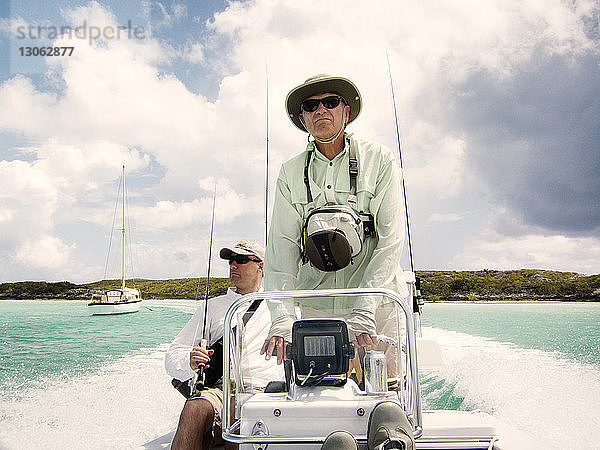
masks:
{"type": "Polygon", "coordinates": [[[600,368],[561,354],[436,328],[446,366],[439,376],[464,397],[464,409],[481,409],[545,444],[546,449],[598,449],[600,368]]]}

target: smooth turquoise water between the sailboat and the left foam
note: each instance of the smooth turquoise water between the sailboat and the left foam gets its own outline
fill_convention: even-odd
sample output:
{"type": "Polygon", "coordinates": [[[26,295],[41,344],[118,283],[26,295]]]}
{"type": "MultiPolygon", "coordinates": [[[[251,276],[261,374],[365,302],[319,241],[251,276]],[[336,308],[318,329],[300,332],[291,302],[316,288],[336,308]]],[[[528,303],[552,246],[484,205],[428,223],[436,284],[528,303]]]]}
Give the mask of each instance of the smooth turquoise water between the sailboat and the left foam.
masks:
{"type": "Polygon", "coordinates": [[[0,301],[0,395],[48,377],[69,378],[176,335],[189,313],[143,306],[91,316],[87,302],[0,301]]]}

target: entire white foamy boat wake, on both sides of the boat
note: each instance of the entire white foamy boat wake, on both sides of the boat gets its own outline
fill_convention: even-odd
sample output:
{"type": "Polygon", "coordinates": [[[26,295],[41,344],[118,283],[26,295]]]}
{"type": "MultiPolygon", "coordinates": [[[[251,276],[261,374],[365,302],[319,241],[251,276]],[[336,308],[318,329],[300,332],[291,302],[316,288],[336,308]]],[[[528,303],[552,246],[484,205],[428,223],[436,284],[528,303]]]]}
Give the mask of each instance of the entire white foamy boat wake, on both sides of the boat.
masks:
{"type": "MultiPolygon", "coordinates": [[[[176,307],[191,312],[196,303],[176,307]]],[[[424,409],[479,409],[546,449],[598,448],[598,365],[437,328],[423,334],[445,359],[421,376],[424,409]]],[[[141,349],[93,374],[13,385],[13,395],[0,396],[0,449],[165,448],[184,402],[164,371],[166,348],[141,349]]]]}

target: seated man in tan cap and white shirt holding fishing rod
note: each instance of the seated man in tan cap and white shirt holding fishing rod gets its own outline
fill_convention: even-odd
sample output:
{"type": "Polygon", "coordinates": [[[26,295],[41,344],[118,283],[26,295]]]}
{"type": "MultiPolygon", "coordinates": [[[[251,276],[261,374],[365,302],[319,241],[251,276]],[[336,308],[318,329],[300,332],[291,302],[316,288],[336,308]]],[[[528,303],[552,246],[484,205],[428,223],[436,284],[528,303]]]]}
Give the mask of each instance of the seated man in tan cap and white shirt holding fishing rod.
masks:
{"type": "MultiPolygon", "coordinates": [[[[214,348],[215,343],[223,337],[225,313],[233,302],[242,295],[261,290],[264,250],[260,245],[241,241],[232,248],[221,249],[220,256],[229,261],[229,279],[235,287],[229,288],[227,294],[208,301],[205,327],[207,349],[200,347],[204,306],[198,307],[169,347],[165,357],[167,373],[181,381],[192,378],[199,366],[211,364],[211,355],[214,352],[211,347],[214,348]]],[[[269,329],[269,318],[270,314],[265,302],[261,302],[256,311],[250,315],[244,335],[244,348],[248,355],[259,355],[269,329]]],[[[282,377],[280,368],[275,367],[275,364],[269,364],[260,357],[257,361],[258,364],[247,359],[242,361],[242,364],[253,365],[246,373],[250,375],[255,385],[262,383],[264,386],[268,381],[282,377]]],[[[171,448],[209,448],[223,443],[221,383],[219,379],[213,385],[205,386],[205,389],[200,391],[200,395],[192,395],[186,401],[171,448]]]]}

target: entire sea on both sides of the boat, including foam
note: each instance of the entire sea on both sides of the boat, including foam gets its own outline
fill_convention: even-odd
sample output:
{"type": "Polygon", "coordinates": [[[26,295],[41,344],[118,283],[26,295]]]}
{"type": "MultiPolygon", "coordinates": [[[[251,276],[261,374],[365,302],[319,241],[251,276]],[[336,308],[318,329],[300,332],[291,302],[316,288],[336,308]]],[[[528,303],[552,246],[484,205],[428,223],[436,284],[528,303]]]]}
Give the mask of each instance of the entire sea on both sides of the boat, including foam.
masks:
{"type": "MultiPolygon", "coordinates": [[[[91,316],[83,301],[0,301],[0,449],[168,448],[184,398],[164,370],[198,302],[91,316]]],[[[444,365],[424,409],[481,410],[545,449],[600,449],[600,303],[432,303],[444,365]]]]}

